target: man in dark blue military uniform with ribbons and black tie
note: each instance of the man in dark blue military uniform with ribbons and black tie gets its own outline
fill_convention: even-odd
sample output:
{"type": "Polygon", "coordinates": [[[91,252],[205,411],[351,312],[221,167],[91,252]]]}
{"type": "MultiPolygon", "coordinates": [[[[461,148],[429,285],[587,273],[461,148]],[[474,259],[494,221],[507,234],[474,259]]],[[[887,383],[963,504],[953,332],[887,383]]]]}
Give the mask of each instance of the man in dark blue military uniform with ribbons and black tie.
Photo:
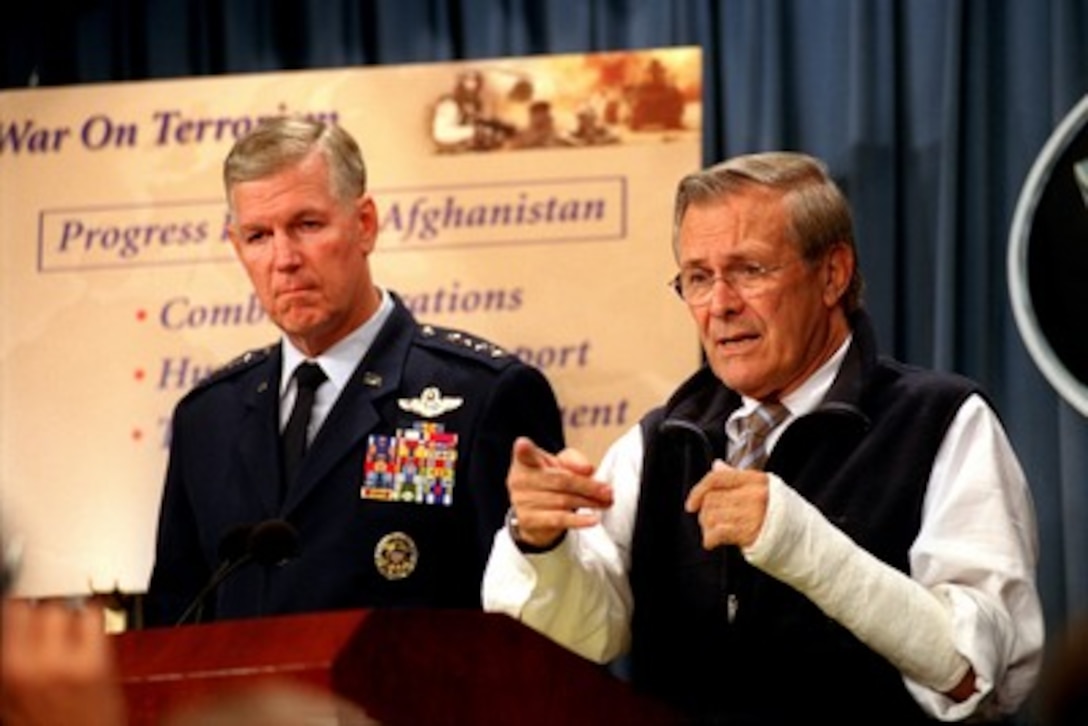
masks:
{"type": "Polygon", "coordinates": [[[562,443],[546,379],[374,284],[378,210],[343,128],[268,121],[224,182],[232,242],[283,339],[174,411],[147,624],[479,607],[514,440],[562,443]]]}

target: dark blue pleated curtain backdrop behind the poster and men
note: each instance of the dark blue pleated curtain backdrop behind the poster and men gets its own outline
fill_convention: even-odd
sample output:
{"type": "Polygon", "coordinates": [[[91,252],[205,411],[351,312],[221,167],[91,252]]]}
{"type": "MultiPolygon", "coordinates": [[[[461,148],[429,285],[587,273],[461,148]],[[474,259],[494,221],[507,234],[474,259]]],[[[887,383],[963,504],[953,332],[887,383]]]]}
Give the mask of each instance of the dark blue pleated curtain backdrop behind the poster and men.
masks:
{"type": "Polygon", "coordinates": [[[1088,611],[1088,423],[1029,357],[1005,276],[1025,177],[1088,91],[1088,0],[15,0],[2,15],[8,88],[701,46],[704,161],[827,160],[885,347],[989,390],[1035,493],[1048,625],[1088,611]]]}

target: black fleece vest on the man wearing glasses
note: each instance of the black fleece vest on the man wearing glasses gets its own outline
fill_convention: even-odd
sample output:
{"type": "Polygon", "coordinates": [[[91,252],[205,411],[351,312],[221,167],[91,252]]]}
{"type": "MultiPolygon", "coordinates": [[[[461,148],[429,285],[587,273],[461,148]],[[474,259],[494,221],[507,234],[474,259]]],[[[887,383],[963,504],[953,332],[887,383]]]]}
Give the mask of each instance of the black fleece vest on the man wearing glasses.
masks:
{"type": "MultiPolygon", "coordinates": [[[[828,398],[790,424],[766,468],[905,573],[937,451],[960,405],[979,391],[960,377],[878,361],[866,323],[855,327],[828,398]]],[[[739,403],[704,369],[642,421],[634,686],[701,724],[930,723],[895,668],[806,598],[735,547],[703,549],[683,501],[706,462],[698,436],[685,432],[701,430],[724,458],[725,421],[739,403]]]]}

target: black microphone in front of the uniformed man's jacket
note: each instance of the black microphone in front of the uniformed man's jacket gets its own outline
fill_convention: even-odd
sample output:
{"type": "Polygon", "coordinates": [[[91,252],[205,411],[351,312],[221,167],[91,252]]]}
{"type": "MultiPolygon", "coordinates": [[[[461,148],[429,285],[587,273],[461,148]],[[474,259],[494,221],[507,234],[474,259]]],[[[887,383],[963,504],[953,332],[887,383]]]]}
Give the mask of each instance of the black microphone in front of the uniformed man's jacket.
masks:
{"type": "Polygon", "coordinates": [[[282,565],[298,556],[298,530],[283,519],[267,519],[257,525],[235,525],[219,542],[219,567],[174,624],[184,625],[193,617],[199,623],[208,596],[238,568],[251,562],[282,565]]]}

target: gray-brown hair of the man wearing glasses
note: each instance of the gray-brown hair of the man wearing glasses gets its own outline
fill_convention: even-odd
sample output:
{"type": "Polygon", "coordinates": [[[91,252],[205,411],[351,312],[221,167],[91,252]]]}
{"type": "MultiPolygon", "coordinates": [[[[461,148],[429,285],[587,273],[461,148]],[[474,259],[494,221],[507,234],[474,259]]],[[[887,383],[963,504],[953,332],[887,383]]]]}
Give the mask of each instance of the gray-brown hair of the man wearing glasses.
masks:
{"type": "MultiPolygon", "coordinates": [[[[802,258],[816,262],[834,245],[843,244],[856,260],[853,214],[842,190],[824,162],[790,151],[733,157],[680,180],[672,216],[673,254],[679,257],[680,225],[690,206],[720,201],[753,187],[781,194],[790,234],[802,258]]],[[[848,313],[861,307],[863,287],[864,280],[855,263],[853,278],[842,296],[848,313]]]]}

